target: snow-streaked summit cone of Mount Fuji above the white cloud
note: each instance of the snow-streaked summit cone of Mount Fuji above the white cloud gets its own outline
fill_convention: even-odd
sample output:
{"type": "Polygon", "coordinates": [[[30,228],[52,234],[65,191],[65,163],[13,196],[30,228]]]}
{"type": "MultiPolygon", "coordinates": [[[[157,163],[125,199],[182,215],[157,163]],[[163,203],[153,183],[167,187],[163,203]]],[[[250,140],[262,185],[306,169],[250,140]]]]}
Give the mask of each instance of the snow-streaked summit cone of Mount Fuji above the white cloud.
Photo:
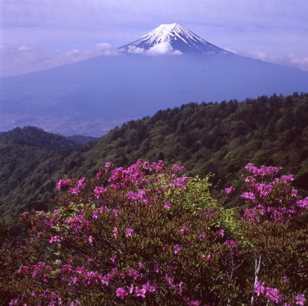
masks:
{"type": "Polygon", "coordinates": [[[119,49],[149,50],[157,44],[169,43],[173,50],[181,53],[229,53],[227,50],[209,43],[178,23],[163,23],[141,38],[119,49]]]}

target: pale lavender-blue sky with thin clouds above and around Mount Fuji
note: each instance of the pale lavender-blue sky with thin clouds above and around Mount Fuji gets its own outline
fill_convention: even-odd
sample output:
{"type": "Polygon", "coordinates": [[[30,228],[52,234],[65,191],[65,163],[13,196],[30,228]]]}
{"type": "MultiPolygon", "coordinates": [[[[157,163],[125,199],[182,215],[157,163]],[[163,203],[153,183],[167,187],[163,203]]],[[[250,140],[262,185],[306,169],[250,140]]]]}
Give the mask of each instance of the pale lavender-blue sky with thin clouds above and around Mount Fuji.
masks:
{"type": "Polygon", "coordinates": [[[308,70],[306,0],[2,0],[0,6],[0,75],[106,54],[102,43],[112,50],[172,22],[240,55],[308,70]]]}

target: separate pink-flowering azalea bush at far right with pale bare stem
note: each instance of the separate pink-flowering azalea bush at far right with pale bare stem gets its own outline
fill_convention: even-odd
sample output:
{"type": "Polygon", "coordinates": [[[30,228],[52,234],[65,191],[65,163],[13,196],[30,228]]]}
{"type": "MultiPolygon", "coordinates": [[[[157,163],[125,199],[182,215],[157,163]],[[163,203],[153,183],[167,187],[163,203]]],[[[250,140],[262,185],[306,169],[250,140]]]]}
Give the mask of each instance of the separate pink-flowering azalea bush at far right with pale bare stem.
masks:
{"type": "Polygon", "coordinates": [[[292,187],[292,174],[276,177],[279,167],[255,167],[243,175],[248,192],[242,217],[254,262],[251,305],[304,305],[308,277],[308,198],[292,187]],[[304,294],[305,293],[305,294],[304,294]]]}

